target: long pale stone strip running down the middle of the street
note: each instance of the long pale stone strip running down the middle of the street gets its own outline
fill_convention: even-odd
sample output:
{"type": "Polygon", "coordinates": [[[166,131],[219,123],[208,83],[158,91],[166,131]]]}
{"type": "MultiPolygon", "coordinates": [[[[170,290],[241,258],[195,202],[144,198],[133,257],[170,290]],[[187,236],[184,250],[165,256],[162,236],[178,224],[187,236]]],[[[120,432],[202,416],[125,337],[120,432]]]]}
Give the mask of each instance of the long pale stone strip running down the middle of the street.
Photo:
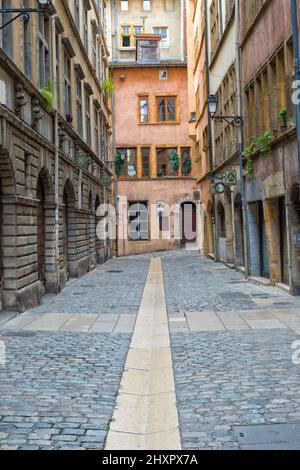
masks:
{"type": "Polygon", "coordinates": [[[159,258],[151,261],[106,449],[181,449],[159,258]]]}

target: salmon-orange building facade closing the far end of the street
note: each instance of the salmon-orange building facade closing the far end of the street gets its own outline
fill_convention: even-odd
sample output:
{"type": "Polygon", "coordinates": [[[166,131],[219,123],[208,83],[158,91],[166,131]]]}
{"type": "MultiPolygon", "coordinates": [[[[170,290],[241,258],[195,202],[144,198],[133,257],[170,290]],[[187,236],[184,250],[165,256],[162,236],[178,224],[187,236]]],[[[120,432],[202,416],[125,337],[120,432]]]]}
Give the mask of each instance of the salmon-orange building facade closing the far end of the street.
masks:
{"type": "Polygon", "coordinates": [[[116,148],[123,162],[118,253],[174,249],[188,241],[197,249],[201,206],[189,135],[185,2],[112,1],[111,7],[116,148]],[[187,240],[183,214],[189,210],[194,235],[187,240]]]}

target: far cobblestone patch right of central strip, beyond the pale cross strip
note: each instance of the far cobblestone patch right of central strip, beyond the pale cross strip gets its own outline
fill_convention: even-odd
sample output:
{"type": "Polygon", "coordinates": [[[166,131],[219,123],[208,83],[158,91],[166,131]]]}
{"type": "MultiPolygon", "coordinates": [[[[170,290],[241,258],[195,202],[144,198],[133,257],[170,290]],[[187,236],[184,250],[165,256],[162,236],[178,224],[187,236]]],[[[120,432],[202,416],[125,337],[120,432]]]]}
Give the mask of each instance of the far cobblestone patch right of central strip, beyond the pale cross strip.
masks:
{"type": "Polygon", "coordinates": [[[161,256],[169,314],[300,307],[300,300],[284,291],[248,282],[237,271],[195,252],[161,256]]]}

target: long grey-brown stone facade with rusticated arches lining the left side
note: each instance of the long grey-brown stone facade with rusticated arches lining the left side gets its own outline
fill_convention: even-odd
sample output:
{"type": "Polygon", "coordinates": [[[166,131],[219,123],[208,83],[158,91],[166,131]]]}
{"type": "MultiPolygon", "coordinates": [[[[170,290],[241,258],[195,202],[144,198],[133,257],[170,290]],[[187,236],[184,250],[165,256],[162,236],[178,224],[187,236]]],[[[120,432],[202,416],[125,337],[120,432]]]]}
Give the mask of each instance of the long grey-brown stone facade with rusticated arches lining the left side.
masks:
{"type": "Polygon", "coordinates": [[[105,18],[104,0],[59,0],[0,33],[2,309],[33,307],[111,256],[96,233],[112,198],[105,18]]]}

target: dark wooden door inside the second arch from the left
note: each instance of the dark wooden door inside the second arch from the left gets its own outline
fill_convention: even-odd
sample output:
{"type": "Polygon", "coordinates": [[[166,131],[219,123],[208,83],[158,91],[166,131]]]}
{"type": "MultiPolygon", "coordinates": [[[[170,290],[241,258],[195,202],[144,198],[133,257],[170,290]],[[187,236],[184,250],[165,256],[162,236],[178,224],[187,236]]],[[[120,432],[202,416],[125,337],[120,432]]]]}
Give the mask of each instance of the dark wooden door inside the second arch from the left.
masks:
{"type": "Polygon", "coordinates": [[[37,255],[39,280],[45,285],[45,197],[42,181],[38,180],[37,198],[37,255]]]}

